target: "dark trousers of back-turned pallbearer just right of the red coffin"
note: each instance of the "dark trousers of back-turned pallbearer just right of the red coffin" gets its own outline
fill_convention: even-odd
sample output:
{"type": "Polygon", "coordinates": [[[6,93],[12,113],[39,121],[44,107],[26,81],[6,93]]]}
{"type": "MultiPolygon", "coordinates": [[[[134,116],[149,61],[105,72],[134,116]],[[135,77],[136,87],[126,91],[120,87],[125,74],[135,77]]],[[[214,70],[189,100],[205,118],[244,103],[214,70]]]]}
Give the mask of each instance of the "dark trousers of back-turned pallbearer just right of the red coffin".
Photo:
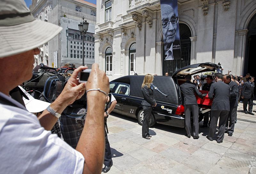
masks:
{"type": "Polygon", "coordinates": [[[224,133],[225,133],[225,126],[226,126],[226,121],[228,117],[229,111],[211,111],[211,124],[210,124],[210,129],[209,129],[209,139],[213,140],[215,130],[217,127],[218,119],[220,117],[219,121],[219,131],[217,134],[217,142],[222,142],[224,138],[224,133]]]}

